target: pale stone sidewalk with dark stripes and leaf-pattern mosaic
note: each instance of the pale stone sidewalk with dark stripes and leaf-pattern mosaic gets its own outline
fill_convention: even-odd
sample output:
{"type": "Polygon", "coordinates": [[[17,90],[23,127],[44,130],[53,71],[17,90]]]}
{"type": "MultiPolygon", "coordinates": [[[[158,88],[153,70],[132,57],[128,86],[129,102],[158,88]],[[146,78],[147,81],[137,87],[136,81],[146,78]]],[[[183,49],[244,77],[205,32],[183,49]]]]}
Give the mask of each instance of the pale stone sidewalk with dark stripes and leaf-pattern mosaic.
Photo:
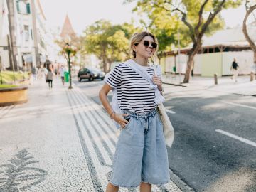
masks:
{"type": "MultiPolygon", "coordinates": [[[[105,191],[119,130],[78,87],[53,86],[38,80],[28,103],[0,107],[1,192],[105,191]]],[[[170,181],[152,191],[181,190],[170,181]]]]}

